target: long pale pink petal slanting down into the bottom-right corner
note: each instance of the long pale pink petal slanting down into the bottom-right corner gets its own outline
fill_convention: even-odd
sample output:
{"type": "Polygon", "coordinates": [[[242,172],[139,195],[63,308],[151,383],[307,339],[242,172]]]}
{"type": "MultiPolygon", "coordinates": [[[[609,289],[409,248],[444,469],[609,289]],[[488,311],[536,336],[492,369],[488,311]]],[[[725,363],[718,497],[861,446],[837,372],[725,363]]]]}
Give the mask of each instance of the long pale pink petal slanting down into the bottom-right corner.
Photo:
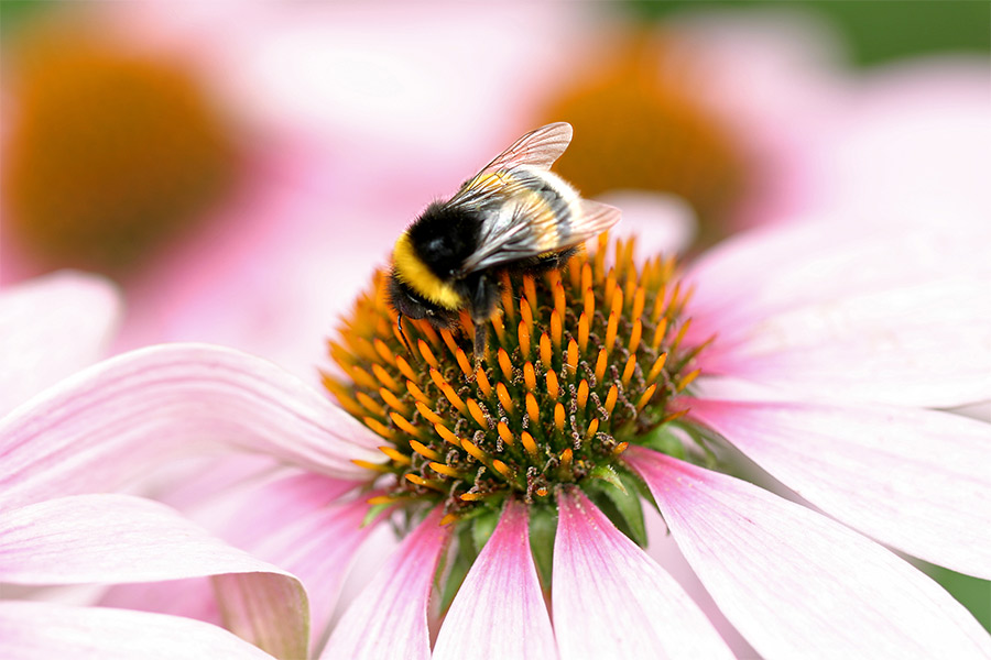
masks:
{"type": "Polygon", "coordinates": [[[752,484],[631,448],[688,563],[766,658],[980,658],[991,638],[881,546],[752,484]]]}

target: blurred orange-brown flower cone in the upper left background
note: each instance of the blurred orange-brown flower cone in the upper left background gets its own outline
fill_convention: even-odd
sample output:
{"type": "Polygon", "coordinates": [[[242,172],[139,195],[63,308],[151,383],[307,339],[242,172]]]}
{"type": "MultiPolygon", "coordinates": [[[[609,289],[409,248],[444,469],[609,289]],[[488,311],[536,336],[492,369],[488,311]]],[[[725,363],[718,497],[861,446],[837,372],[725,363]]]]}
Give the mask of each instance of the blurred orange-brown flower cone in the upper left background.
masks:
{"type": "Polygon", "coordinates": [[[233,143],[179,63],[66,29],[22,51],[4,204],[36,258],[116,273],[227,190],[233,143]]]}

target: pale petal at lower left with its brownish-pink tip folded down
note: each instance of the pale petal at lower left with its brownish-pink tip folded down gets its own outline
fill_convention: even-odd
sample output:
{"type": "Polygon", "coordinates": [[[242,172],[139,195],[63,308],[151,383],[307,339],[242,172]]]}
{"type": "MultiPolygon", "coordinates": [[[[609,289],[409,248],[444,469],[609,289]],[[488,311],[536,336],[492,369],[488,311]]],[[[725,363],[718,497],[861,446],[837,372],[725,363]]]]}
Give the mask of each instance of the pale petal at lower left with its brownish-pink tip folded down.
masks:
{"type": "Polygon", "coordinates": [[[168,507],[76,495],[0,515],[0,581],[150,582],[215,576],[227,625],[281,658],[305,654],[306,594],[291,574],[227,546],[168,507]]]}

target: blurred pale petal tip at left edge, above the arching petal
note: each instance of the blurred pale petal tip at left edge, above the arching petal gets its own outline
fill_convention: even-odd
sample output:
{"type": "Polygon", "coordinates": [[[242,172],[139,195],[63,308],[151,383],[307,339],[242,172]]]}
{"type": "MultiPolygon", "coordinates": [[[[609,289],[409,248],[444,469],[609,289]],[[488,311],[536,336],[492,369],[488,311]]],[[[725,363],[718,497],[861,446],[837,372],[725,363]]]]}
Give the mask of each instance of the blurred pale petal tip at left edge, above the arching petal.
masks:
{"type": "Polygon", "coordinates": [[[120,314],[119,293],[96,275],[61,271],[0,290],[0,415],[100,360],[120,314]]]}

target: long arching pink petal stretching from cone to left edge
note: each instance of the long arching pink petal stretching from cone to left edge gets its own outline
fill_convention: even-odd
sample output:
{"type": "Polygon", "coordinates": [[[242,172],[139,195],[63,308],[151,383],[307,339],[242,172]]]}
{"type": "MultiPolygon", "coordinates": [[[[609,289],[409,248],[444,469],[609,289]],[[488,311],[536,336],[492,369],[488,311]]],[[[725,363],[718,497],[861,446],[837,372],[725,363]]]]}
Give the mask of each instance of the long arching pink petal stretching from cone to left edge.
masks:
{"type": "Polygon", "coordinates": [[[0,503],[112,490],[163,461],[240,450],[367,477],[381,439],[318,392],[244,353],[164,344],[69,378],[0,420],[0,503]]]}

